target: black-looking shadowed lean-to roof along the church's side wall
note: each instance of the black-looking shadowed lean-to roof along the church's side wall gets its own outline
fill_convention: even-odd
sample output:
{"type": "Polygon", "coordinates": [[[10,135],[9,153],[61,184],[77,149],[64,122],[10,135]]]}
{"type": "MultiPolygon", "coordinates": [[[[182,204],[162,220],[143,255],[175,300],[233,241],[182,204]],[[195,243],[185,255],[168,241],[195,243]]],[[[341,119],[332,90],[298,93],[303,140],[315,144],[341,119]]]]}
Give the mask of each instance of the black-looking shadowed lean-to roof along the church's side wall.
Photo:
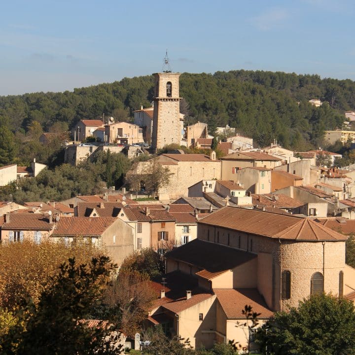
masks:
{"type": "Polygon", "coordinates": [[[166,256],[195,265],[201,268],[200,271],[219,274],[254,259],[256,254],[195,239],[169,251],[166,256]]]}

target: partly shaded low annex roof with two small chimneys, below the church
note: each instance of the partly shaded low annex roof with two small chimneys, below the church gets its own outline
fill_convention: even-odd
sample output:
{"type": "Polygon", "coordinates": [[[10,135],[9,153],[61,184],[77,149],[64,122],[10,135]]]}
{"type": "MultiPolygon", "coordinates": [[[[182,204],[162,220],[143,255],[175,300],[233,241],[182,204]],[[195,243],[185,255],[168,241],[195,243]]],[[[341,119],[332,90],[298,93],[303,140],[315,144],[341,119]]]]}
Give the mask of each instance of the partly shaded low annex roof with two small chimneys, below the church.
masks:
{"type": "Polygon", "coordinates": [[[158,281],[151,282],[157,297],[160,297],[160,290],[165,288],[165,297],[158,298],[152,309],[162,306],[169,311],[179,313],[210,297],[214,297],[211,292],[198,287],[198,280],[189,275],[174,271],[167,274],[165,278],[166,284],[164,286],[158,281]],[[186,300],[186,290],[191,290],[191,298],[188,300],[186,300]]]}

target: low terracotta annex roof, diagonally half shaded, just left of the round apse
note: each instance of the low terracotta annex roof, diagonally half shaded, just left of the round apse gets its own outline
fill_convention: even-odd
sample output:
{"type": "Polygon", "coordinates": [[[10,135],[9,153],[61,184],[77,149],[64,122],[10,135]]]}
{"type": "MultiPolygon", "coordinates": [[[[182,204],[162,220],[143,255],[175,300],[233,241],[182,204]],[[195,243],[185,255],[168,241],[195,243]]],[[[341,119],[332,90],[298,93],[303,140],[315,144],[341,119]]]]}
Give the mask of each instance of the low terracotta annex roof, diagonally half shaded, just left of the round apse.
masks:
{"type": "Polygon", "coordinates": [[[253,312],[261,313],[258,318],[271,318],[274,315],[256,288],[213,288],[213,292],[229,319],[244,319],[242,310],[246,305],[250,305],[253,312]]]}

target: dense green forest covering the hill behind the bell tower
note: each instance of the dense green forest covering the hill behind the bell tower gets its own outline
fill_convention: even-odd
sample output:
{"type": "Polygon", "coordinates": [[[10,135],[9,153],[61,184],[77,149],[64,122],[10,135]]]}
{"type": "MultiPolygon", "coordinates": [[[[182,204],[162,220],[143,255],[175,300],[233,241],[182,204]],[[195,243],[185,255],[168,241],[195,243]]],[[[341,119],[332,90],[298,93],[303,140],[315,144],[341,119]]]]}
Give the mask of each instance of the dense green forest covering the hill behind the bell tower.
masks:
{"type": "MultiPolygon", "coordinates": [[[[269,71],[182,73],[180,96],[187,124],[207,122],[212,131],[229,124],[260,146],[277,139],[284,147],[307,150],[321,146],[324,130],[341,127],[344,111],[355,109],[355,82],[269,71]],[[312,106],[308,101],[313,98],[325,103],[312,106]]],[[[0,150],[5,157],[0,164],[27,164],[32,155],[53,163],[56,144],[43,151],[38,145],[42,131],[66,131],[79,119],[103,113],[130,119],[141,105],[150,106],[152,98],[151,75],[73,92],[0,97],[0,150]]]]}

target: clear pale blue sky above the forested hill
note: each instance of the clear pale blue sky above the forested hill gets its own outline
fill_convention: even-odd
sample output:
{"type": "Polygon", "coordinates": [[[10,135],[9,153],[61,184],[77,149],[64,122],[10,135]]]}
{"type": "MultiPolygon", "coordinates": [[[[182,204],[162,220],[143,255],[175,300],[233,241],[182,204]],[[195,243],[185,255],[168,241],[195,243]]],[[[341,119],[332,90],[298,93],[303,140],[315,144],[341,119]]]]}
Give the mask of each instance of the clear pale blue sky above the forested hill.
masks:
{"type": "Polygon", "coordinates": [[[161,71],[235,69],[355,80],[354,0],[11,0],[0,95],[161,71]]]}

